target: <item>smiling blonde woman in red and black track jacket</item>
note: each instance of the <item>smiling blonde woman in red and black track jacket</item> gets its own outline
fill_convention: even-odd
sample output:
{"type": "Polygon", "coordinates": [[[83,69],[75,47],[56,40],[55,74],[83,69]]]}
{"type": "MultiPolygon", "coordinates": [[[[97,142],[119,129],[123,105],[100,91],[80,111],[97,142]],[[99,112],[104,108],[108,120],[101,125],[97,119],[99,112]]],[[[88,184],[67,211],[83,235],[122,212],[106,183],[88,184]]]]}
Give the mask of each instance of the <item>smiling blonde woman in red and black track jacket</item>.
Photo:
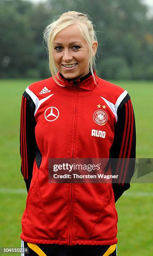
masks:
{"type": "Polygon", "coordinates": [[[28,198],[22,246],[30,255],[116,255],[115,202],[129,183],[49,183],[49,159],[135,158],[128,92],[97,76],[87,15],[63,13],[45,29],[52,77],[23,93],[20,154],[28,198]]]}

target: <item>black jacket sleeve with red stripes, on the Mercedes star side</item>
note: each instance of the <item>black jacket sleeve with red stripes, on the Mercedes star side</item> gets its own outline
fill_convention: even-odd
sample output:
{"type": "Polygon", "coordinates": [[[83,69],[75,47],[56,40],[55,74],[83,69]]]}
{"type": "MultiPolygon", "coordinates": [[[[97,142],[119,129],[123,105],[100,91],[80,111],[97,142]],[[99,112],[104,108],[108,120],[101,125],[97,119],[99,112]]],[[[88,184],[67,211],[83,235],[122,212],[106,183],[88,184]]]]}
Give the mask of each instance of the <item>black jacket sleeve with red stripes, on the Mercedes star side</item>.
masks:
{"type": "Polygon", "coordinates": [[[36,155],[35,141],[35,104],[31,97],[24,92],[20,113],[20,156],[21,173],[23,175],[27,191],[33,176],[33,164],[36,155]]]}

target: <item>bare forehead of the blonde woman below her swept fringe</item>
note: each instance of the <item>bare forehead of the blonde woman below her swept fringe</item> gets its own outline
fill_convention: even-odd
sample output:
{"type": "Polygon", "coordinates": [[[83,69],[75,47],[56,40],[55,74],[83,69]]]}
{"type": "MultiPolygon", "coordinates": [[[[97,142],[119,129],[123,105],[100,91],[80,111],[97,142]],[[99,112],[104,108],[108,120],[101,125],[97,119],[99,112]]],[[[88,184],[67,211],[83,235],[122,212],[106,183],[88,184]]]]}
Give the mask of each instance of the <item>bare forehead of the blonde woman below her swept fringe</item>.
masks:
{"type": "Polygon", "coordinates": [[[73,41],[80,41],[86,43],[85,38],[80,32],[78,26],[69,25],[66,28],[63,28],[54,38],[54,43],[70,43],[73,41]]]}

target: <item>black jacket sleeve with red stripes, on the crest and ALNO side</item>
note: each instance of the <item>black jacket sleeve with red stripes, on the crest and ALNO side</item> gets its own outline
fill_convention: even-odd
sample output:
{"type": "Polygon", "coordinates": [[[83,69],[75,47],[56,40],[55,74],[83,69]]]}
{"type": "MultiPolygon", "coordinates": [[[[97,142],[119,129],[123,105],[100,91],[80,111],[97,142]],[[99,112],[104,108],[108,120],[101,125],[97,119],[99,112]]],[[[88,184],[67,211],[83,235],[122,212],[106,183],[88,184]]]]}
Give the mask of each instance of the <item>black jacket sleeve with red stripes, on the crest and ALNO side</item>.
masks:
{"type": "Polygon", "coordinates": [[[118,106],[117,117],[114,141],[110,148],[110,157],[117,159],[113,172],[120,177],[120,181],[118,180],[120,183],[112,184],[115,202],[125,190],[130,188],[130,179],[135,168],[135,117],[128,94],[118,106]],[[119,172],[118,166],[120,166],[119,172]]]}

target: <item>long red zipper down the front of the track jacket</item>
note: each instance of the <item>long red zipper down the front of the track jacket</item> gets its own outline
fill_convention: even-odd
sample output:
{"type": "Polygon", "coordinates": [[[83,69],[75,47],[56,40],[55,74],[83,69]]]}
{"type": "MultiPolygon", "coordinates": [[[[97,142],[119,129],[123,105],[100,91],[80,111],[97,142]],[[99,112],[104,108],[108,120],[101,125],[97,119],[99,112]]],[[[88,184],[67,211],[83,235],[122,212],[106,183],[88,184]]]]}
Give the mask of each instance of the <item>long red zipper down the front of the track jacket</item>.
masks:
{"type": "MultiPolygon", "coordinates": [[[[77,86],[77,81],[73,81],[73,84],[75,85],[75,118],[74,118],[74,126],[73,126],[73,151],[72,151],[72,164],[73,164],[73,154],[74,154],[74,146],[75,146],[75,135],[76,135],[76,110],[77,110],[77,103],[78,103],[78,86],[77,86]]],[[[73,170],[72,170],[73,171],[73,170]]],[[[70,234],[72,231],[72,210],[73,210],[73,202],[72,202],[72,186],[73,183],[70,183],[70,234]]],[[[69,245],[72,245],[72,238],[70,237],[69,234],[69,245]]]]}

